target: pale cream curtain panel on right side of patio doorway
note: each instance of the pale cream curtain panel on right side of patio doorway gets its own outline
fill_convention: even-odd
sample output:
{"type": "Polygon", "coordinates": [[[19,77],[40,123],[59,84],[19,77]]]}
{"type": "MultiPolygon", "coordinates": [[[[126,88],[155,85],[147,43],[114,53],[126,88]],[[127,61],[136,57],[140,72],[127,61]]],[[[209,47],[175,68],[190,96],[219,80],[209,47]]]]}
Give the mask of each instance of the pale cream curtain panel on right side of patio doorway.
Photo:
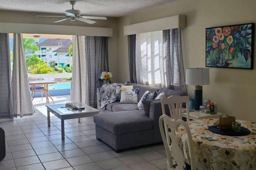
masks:
{"type": "Polygon", "coordinates": [[[86,36],[73,36],[73,71],[71,102],[86,103],[86,36]]]}

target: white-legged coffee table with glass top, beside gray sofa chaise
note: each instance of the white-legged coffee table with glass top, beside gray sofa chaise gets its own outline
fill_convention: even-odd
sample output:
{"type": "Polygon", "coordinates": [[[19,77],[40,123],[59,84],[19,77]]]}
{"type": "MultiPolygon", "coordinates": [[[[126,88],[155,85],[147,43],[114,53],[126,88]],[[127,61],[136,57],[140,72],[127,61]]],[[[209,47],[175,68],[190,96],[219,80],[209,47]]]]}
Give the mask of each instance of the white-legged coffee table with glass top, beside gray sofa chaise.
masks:
{"type": "Polygon", "coordinates": [[[46,105],[47,107],[47,120],[48,127],[51,126],[50,120],[50,112],[54,114],[61,120],[61,139],[65,139],[65,128],[64,128],[64,120],[78,118],[78,122],[80,123],[80,118],[82,117],[90,117],[99,113],[99,110],[82,104],[84,110],[71,110],[66,108],[66,104],[55,104],[55,105],[46,105]]]}

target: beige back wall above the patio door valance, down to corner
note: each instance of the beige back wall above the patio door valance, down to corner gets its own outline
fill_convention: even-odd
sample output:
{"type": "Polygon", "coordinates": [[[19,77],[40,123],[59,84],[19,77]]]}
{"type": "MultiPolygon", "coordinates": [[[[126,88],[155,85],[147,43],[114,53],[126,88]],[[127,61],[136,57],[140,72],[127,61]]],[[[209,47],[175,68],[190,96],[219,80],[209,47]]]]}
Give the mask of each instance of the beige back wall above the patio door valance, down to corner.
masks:
{"type": "MultiPolygon", "coordinates": [[[[108,17],[108,20],[97,20],[93,25],[80,21],[70,21],[53,23],[59,18],[44,18],[36,17],[36,15],[52,15],[49,13],[35,13],[35,12],[14,12],[14,11],[0,11],[0,22],[13,23],[36,23],[46,25],[63,25],[63,26],[83,26],[83,27],[105,27],[113,29],[113,37],[109,37],[109,64],[110,71],[116,72],[117,65],[117,18],[108,17]]],[[[55,14],[56,15],[56,14],[55,14]]],[[[115,81],[116,77],[113,78],[115,81]]]]}

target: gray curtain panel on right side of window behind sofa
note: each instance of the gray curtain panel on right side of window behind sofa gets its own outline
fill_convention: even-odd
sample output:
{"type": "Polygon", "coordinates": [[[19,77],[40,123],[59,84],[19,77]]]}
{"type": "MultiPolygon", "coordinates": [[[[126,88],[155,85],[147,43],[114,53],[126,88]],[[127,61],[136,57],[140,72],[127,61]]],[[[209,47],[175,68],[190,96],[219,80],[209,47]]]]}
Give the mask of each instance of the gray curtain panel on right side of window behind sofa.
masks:
{"type": "Polygon", "coordinates": [[[163,47],[166,56],[167,88],[187,92],[183,67],[180,29],[163,31],[163,47]]]}

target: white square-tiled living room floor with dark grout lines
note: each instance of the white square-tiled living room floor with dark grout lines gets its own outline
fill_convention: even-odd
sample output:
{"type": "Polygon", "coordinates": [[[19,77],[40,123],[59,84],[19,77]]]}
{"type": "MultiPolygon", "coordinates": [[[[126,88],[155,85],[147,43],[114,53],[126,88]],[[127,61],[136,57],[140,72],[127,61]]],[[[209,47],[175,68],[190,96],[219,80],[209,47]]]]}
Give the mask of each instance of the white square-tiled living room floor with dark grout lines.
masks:
{"type": "MultiPolygon", "coordinates": [[[[37,103],[35,107],[38,105],[44,106],[37,103]]],[[[77,119],[66,120],[64,141],[60,120],[51,116],[48,127],[46,116],[38,110],[32,116],[2,122],[0,126],[6,135],[6,157],[0,162],[1,170],[166,169],[163,145],[115,153],[109,145],[96,140],[93,117],[82,118],[81,123],[77,119]]]]}

